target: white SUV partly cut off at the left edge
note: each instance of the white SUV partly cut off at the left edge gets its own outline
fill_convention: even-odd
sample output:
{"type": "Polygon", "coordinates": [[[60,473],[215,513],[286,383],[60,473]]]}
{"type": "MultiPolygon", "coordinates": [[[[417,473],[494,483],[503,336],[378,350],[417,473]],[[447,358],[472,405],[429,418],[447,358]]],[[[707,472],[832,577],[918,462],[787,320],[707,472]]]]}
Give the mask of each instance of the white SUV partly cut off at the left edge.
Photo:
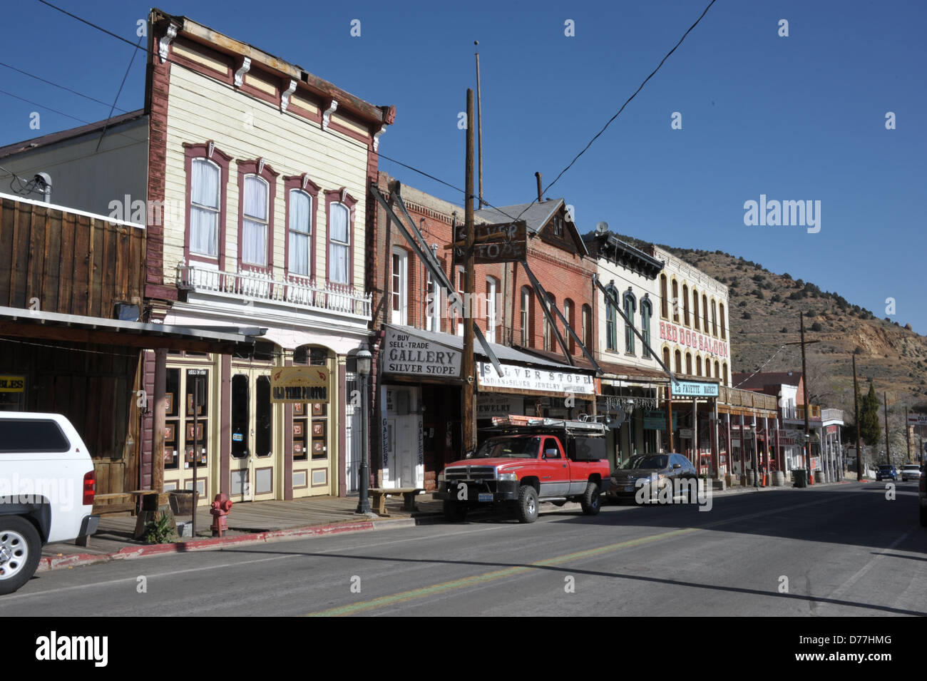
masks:
{"type": "Polygon", "coordinates": [[[35,574],[42,546],[96,532],[90,452],[60,414],[0,411],[0,594],[35,574]]]}

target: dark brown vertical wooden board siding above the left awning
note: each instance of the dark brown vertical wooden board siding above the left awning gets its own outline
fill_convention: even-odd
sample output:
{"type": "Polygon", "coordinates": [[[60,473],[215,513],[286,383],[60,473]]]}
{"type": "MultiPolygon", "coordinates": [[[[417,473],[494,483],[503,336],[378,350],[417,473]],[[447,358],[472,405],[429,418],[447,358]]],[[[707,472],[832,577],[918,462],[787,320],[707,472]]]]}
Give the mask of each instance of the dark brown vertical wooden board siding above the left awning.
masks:
{"type": "Polygon", "coordinates": [[[145,230],[4,197],[0,304],[111,319],[143,294],[145,230]]]}

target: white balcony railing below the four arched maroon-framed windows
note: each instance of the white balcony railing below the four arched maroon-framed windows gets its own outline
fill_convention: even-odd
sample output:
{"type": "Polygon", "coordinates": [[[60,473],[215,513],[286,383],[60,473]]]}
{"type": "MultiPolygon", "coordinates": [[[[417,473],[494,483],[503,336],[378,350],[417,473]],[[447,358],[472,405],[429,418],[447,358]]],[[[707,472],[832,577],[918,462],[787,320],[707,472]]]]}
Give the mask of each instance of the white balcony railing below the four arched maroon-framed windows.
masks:
{"type": "Polygon", "coordinates": [[[177,266],[177,288],[215,293],[247,300],[279,303],[298,309],[321,309],[369,321],[370,294],[345,284],[316,284],[306,277],[287,274],[281,281],[266,272],[227,272],[197,265],[177,266]]]}

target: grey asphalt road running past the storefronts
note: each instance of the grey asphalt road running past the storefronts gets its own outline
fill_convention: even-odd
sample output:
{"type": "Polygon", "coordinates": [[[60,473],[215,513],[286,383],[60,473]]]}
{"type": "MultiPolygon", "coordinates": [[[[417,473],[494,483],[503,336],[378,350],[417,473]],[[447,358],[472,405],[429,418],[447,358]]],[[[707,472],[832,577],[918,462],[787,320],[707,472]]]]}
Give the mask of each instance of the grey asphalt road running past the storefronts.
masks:
{"type": "Polygon", "coordinates": [[[925,615],[917,483],[885,497],[873,483],[718,495],[707,512],[544,504],[530,525],[475,515],[171,554],[40,574],[0,616],[925,615]]]}

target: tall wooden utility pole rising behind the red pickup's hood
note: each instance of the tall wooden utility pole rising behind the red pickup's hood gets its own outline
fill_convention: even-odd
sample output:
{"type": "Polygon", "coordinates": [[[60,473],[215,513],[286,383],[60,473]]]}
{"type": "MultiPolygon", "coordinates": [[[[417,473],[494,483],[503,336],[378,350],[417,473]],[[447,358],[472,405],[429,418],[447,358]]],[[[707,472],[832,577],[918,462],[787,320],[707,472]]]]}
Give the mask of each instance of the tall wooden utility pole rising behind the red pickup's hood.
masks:
{"type": "Polygon", "coordinates": [[[464,200],[464,357],[461,360],[461,369],[464,376],[464,404],[463,404],[463,427],[464,427],[464,451],[476,449],[476,422],[474,413],[474,395],[476,376],[474,375],[474,357],[473,357],[473,293],[474,293],[474,268],[473,268],[473,90],[467,88],[466,91],[466,170],[465,189],[466,198],[464,200]]]}

